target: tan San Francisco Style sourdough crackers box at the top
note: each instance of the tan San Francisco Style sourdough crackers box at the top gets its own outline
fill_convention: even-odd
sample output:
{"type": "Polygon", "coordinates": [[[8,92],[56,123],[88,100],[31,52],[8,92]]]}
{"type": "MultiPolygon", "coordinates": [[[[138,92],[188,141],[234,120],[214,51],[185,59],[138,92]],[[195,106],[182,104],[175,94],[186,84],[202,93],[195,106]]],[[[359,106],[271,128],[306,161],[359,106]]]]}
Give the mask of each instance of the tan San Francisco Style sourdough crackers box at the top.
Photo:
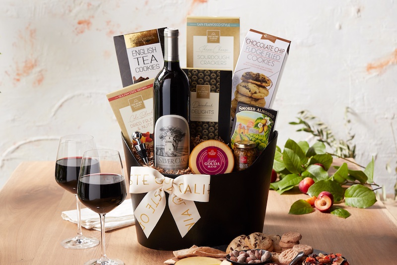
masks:
{"type": "Polygon", "coordinates": [[[187,16],[187,67],[232,70],[240,52],[240,18],[187,16]]]}

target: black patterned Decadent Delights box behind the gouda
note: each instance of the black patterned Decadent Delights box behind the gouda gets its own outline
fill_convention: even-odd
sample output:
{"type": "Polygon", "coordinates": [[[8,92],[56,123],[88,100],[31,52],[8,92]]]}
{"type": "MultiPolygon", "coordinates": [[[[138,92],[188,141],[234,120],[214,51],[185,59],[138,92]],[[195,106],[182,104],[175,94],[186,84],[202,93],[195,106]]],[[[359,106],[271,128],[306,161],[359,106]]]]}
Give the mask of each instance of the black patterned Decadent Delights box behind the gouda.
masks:
{"type": "Polygon", "coordinates": [[[190,83],[189,128],[191,137],[227,142],[230,135],[232,71],[183,69],[190,83]]]}

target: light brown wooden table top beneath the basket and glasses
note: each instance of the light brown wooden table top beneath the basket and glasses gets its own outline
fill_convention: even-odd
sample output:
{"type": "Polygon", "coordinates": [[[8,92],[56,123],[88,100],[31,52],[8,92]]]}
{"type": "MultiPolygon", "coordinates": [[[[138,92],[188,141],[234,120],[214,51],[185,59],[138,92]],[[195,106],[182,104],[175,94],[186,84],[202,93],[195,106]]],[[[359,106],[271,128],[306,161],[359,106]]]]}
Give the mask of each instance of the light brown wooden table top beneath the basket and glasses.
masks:
{"type": "MultiPolygon", "coordinates": [[[[54,170],[54,161],[23,162],[1,190],[1,265],[83,264],[100,256],[99,246],[87,250],[61,246],[63,239],[76,233],[76,225],[61,218],[62,211],[75,209],[75,199],[56,183],[54,170]]],[[[281,235],[298,231],[303,236],[302,244],[342,253],[351,265],[397,263],[397,221],[382,202],[367,209],[346,207],[351,213],[347,219],[319,211],[288,214],[295,200],[306,197],[270,191],[264,232],[281,235]]],[[[83,234],[100,238],[95,230],[83,229],[83,234]]],[[[127,265],[161,265],[173,257],[171,251],[139,245],[134,226],[106,233],[106,245],[108,257],[127,265]]]]}

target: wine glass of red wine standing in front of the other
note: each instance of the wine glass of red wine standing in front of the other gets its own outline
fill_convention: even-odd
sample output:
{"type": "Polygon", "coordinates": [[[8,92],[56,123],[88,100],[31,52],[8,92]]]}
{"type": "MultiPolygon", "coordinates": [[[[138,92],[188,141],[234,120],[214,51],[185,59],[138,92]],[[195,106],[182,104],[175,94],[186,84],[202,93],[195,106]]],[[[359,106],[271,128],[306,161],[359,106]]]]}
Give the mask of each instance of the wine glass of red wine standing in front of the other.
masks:
{"type": "Polygon", "coordinates": [[[84,265],[124,265],[124,262],[109,259],[105,254],[105,214],[120,205],[127,197],[123,164],[118,151],[94,149],[84,152],[77,195],[85,206],[99,213],[101,218],[102,255],[99,259],[90,260],[84,265]]]}

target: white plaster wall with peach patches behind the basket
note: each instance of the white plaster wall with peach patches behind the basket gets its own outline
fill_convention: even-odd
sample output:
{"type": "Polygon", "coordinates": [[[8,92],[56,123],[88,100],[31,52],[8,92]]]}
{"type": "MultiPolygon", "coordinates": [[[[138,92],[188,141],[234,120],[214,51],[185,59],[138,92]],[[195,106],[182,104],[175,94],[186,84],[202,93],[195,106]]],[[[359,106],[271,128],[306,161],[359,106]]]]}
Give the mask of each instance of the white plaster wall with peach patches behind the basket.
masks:
{"type": "Polygon", "coordinates": [[[65,134],[92,134],[98,147],[122,152],[106,99],[122,87],[113,36],[179,28],[186,66],[188,14],[239,16],[240,43],[250,28],[291,40],[273,105],[278,145],[309,136],[288,124],[304,109],[346,138],[349,107],[356,160],[375,156],[375,181],[393,193],[396,173],[386,164],[397,163],[394,0],[2,0],[0,187],[21,161],[55,160],[65,134]]]}

